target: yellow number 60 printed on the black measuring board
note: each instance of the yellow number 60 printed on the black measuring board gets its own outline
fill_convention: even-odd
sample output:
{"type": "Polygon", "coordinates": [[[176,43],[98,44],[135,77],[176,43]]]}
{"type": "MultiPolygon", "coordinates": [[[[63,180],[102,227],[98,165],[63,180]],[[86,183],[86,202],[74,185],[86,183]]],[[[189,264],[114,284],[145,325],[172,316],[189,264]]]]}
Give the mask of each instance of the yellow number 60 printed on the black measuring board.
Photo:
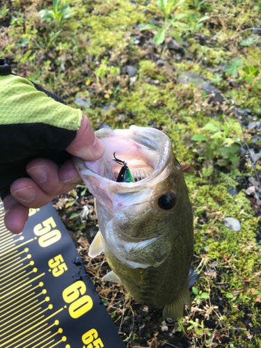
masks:
{"type": "Polygon", "coordinates": [[[78,280],[76,283],[73,283],[63,290],[63,300],[66,303],[71,303],[69,307],[69,314],[73,319],[81,317],[81,315],[84,315],[88,312],[88,310],[93,308],[93,300],[90,296],[84,295],[85,292],[86,285],[81,280],[78,280]]]}

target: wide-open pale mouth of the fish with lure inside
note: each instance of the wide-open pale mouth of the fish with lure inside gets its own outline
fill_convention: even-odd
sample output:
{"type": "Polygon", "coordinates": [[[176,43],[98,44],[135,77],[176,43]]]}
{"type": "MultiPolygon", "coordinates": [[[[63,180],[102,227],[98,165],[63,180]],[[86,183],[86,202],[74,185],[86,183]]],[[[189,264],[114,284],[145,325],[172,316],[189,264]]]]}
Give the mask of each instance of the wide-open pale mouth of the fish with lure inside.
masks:
{"type": "MultiPolygon", "coordinates": [[[[79,161],[74,159],[79,171],[87,170],[106,179],[117,183],[120,187],[135,191],[135,187],[147,184],[154,180],[164,168],[168,157],[172,152],[171,141],[168,136],[154,128],[137,127],[132,125],[129,129],[100,129],[95,132],[102,143],[105,152],[97,161],[79,161]],[[115,157],[124,161],[132,173],[133,182],[117,182],[122,164],[115,161],[115,157]],[[84,166],[83,166],[84,164],[84,166]]],[[[81,172],[80,172],[81,174],[81,172]]],[[[112,183],[111,183],[112,184],[112,183]]]]}

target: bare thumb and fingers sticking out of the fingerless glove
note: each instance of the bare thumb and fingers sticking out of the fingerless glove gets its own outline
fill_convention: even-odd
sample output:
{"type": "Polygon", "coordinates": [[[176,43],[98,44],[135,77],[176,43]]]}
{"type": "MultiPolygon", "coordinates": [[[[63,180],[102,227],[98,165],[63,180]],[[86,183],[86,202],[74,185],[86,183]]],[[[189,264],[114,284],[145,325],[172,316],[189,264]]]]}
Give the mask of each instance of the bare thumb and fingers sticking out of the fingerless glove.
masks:
{"type": "MultiPolygon", "coordinates": [[[[86,161],[102,157],[104,145],[96,138],[85,115],[76,138],[65,150],[86,161]]],[[[70,191],[81,182],[72,159],[66,161],[61,168],[50,159],[33,159],[27,164],[26,172],[30,177],[15,180],[10,187],[12,194],[3,200],[6,228],[16,234],[22,232],[29,216],[29,208],[47,205],[56,195],[70,191]]]]}

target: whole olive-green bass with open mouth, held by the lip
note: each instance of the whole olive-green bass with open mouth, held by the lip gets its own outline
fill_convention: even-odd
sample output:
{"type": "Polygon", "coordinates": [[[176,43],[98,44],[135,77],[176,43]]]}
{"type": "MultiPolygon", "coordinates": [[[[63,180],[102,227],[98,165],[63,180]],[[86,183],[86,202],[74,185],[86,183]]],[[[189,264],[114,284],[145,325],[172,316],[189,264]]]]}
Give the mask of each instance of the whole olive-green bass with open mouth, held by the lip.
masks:
{"type": "Polygon", "coordinates": [[[112,271],[102,280],[122,283],[136,301],[164,307],[163,317],[177,320],[184,305],[191,306],[193,214],[171,141],[157,129],[134,125],[95,135],[104,156],[94,162],[74,158],[96,198],[100,230],[89,255],[104,251],[112,271]],[[117,182],[123,163],[133,182],[117,182]]]}

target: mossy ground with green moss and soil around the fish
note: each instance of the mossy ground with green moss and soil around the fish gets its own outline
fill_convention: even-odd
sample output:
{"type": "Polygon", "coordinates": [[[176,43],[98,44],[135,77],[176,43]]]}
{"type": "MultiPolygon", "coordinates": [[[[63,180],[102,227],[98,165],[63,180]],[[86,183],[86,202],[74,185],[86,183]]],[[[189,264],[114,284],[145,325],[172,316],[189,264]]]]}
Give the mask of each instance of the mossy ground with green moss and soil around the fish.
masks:
{"type": "MultiPolygon", "coordinates": [[[[164,20],[155,0],[63,1],[70,5],[72,17],[61,24],[40,20],[38,11],[52,8],[51,1],[3,3],[9,12],[0,15],[1,56],[8,58],[13,72],[41,84],[72,107],[77,107],[76,97],[90,98],[90,108],[82,110],[95,129],[132,124],[161,129],[173,141],[175,155],[187,170],[195,225],[193,267],[200,270],[196,287],[209,293],[209,299],[194,301],[187,321],[178,324],[162,324],[161,311],[134,303],[122,287],[101,283],[97,271],[106,273],[104,258],[93,262],[86,256],[86,231],[90,242],[90,226],[96,229],[95,215],[83,225],[68,219],[76,205],[69,207],[68,200],[61,204],[68,228],[81,235],[84,250],[80,253],[127,347],[261,347],[261,297],[256,292],[261,283],[261,249],[256,242],[260,218],[255,217],[244,190],[237,196],[228,193],[229,187],[237,187],[236,177],[253,175],[253,168],[249,162],[240,170],[231,166],[226,173],[216,167],[211,177],[203,177],[193,148],[182,141],[186,134],[200,133],[208,122],[222,126],[225,121],[231,127],[230,136],[242,138],[227,97],[234,98],[241,108],[251,109],[255,120],[261,117],[261,83],[255,79],[260,78],[260,43],[240,45],[254,36],[252,27],[260,27],[260,0],[185,1],[177,8],[179,13],[200,17],[207,13],[209,19],[199,31],[184,37],[187,46],[180,52],[164,45],[156,47],[152,42],[155,33],[139,30],[138,25],[151,18],[159,26],[164,20]],[[240,58],[244,65],[235,76],[221,69],[233,58],[240,58]],[[164,66],[157,64],[159,59],[164,66]],[[127,65],[136,68],[134,79],[126,73],[127,65]],[[257,69],[253,79],[247,67],[257,69]],[[180,70],[213,79],[226,102],[220,105],[193,85],[178,83],[180,70]],[[220,74],[219,81],[214,79],[216,74],[220,74]],[[240,221],[239,232],[223,225],[227,216],[240,221]],[[188,329],[188,320],[196,323],[196,318],[205,328],[199,334],[195,326],[188,329]],[[177,331],[182,323],[184,333],[177,331]]],[[[184,34],[182,24],[176,30],[184,34]]],[[[249,134],[247,139],[251,139],[249,134]]],[[[260,164],[257,168],[261,169],[260,164]]],[[[74,203],[73,197],[70,202],[74,203]]]]}

